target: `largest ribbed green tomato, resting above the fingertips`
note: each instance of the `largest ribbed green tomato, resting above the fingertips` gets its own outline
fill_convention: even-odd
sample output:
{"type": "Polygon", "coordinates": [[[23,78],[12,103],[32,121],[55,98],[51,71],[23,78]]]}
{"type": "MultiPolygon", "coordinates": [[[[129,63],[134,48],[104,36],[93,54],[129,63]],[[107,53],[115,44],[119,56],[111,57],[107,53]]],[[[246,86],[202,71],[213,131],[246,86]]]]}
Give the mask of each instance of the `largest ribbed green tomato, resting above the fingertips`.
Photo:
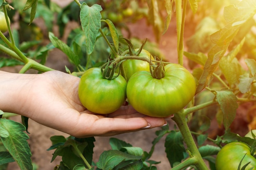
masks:
{"type": "Polygon", "coordinates": [[[167,64],[165,76],[153,78],[148,71],[130,77],[126,94],[128,102],[139,113],[152,117],[168,117],[184,108],[195,95],[195,79],[179,64],[167,64]]]}

